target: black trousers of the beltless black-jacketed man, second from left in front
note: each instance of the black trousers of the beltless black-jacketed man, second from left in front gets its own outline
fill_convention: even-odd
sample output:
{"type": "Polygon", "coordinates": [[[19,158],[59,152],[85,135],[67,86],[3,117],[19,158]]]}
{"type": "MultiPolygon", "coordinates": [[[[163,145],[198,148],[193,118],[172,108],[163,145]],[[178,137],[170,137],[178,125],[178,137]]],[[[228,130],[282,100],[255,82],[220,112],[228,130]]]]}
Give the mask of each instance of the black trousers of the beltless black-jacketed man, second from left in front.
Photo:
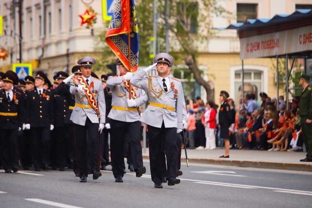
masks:
{"type": "Polygon", "coordinates": [[[35,168],[50,165],[50,127],[30,127],[32,161],[35,168]]]}

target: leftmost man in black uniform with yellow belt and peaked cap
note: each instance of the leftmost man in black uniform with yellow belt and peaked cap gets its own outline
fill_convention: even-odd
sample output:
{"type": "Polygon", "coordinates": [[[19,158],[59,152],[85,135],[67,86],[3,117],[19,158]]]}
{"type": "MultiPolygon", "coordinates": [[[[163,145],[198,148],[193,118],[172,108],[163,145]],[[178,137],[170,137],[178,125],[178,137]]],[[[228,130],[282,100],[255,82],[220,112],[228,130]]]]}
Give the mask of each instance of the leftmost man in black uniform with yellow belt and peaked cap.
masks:
{"type": "Polygon", "coordinates": [[[0,157],[6,173],[17,172],[15,155],[18,131],[21,131],[24,118],[23,96],[13,89],[18,79],[10,73],[2,76],[3,86],[0,90],[0,157]]]}

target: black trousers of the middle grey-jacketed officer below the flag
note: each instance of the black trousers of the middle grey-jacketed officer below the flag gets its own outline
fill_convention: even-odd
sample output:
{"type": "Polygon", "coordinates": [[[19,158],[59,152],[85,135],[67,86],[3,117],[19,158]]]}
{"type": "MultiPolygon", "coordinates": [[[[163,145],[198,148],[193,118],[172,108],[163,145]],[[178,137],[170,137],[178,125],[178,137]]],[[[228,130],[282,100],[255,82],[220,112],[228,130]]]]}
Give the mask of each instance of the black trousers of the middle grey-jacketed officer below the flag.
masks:
{"type": "Polygon", "coordinates": [[[134,169],[143,166],[142,147],[140,143],[141,122],[124,122],[111,119],[111,159],[114,177],[123,176],[124,169],[124,145],[126,134],[129,135],[129,146],[134,169]]]}

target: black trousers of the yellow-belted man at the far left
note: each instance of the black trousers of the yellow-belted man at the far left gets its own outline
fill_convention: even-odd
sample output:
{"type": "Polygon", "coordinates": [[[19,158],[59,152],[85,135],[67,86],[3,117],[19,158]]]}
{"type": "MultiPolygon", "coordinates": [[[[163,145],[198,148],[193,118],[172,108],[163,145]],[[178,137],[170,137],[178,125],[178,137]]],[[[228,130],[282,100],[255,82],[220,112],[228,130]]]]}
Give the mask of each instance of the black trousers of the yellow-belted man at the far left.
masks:
{"type": "Polygon", "coordinates": [[[0,158],[3,169],[11,169],[13,165],[12,144],[17,143],[18,129],[0,129],[0,158]]]}

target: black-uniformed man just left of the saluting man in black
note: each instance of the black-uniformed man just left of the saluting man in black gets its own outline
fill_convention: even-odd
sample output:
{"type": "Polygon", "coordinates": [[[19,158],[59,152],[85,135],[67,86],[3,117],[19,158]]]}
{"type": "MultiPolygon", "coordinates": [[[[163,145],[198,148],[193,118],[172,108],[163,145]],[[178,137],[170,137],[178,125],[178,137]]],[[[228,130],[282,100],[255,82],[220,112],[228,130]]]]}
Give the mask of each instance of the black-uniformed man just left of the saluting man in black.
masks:
{"type": "MultiPolygon", "coordinates": [[[[69,75],[66,72],[60,71],[57,73],[58,85],[62,83],[69,75]]],[[[54,86],[58,86],[54,84],[54,86]]],[[[59,171],[64,171],[67,166],[67,151],[66,151],[66,112],[68,111],[68,102],[66,96],[58,95],[56,89],[52,90],[54,95],[54,130],[51,138],[51,162],[53,162],[52,170],[56,170],[56,165],[59,166],[59,171]]]]}

